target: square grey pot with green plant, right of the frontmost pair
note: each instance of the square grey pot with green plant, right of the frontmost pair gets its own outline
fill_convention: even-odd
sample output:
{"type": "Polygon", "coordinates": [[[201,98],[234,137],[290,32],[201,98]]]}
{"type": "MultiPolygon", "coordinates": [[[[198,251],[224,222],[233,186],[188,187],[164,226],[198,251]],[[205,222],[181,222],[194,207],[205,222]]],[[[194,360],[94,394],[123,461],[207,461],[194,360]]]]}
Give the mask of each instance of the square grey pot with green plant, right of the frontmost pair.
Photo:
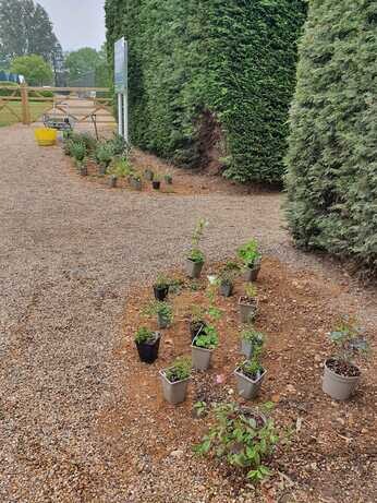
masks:
{"type": "Polygon", "coordinates": [[[267,373],[259,361],[260,352],[262,348],[255,349],[253,358],[240,363],[234,371],[239,394],[246,400],[257,396],[267,373]]]}

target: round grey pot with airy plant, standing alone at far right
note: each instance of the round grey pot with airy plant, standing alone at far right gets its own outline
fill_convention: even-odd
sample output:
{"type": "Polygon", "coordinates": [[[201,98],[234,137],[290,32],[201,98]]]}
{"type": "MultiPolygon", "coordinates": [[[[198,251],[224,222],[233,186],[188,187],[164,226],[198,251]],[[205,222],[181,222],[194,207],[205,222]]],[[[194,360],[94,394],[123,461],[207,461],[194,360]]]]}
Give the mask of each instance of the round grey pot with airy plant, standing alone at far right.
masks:
{"type": "Polygon", "coordinates": [[[339,350],[338,355],[325,361],[323,391],[337,400],[346,400],[354,394],[361,378],[353,357],[365,352],[367,343],[362,338],[355,320],[342,320],[329,337],[339,350]]]}

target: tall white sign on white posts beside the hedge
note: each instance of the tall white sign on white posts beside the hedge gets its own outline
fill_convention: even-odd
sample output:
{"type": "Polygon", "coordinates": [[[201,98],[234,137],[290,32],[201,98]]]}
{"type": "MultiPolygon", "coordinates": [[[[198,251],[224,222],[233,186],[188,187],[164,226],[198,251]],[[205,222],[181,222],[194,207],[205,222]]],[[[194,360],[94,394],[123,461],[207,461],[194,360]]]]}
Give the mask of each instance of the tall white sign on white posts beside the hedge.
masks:
{"type": "Polygon", "coordinates": [[[121,38],[114,45],[114,85],[118,95],[118,132],[129,143],[129,47],[121,38]]]}

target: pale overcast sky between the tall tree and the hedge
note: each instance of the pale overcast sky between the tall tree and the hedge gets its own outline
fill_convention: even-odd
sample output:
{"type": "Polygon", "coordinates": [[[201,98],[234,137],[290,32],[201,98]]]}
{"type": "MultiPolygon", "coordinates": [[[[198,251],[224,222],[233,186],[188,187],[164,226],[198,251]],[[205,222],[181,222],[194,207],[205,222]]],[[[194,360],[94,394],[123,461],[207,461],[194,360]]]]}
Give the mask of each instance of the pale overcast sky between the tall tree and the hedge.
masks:
{"type": "Polygon", "coordinates": [[[63,50],[105,41],[105,0],[36,0],[48,12],[63,50]]]}

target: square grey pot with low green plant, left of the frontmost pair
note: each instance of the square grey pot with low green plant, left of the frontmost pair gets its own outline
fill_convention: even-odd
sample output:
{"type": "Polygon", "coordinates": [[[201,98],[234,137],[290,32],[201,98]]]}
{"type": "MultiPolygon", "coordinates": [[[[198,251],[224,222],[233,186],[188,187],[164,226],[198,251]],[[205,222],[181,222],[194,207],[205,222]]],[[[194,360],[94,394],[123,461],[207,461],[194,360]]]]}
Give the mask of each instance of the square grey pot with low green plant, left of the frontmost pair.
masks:
{"type": "Polygon", "coordinates": [[[179,358],[174,363],[160,371],[163,397],[170,404],[184,402],[191,376],[191,360],[179,358]]]}

